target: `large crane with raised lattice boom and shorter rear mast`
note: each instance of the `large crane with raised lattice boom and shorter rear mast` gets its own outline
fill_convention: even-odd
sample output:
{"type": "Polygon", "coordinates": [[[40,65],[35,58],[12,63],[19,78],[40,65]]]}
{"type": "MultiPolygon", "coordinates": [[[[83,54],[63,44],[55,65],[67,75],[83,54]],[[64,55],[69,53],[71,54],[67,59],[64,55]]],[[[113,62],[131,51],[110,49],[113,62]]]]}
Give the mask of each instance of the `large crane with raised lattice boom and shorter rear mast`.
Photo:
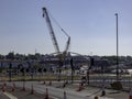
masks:
{"type": "Polygon", "coordinates": [[[70,36],[59,26],[61,30],[63,31],[63,33],[68,37],[64,52],[61,52],[55,33],[54,33],[54,30],[53,30],[53,26],[52,26],[52,22],[51,22],[48,12],[47,12],[46,8],[42,8],[42,10],[43,10],[43,18],[45,18],[46,23],[47,23],[47,28],[50,30],[50,34],[51,34],[51,37],[53,41],[55,52],[57,53],[57,56],[58,56],[61,63],[63,63],[67,56],[67,51],[68,51],[69,45],[70,45],[70,36]]]}

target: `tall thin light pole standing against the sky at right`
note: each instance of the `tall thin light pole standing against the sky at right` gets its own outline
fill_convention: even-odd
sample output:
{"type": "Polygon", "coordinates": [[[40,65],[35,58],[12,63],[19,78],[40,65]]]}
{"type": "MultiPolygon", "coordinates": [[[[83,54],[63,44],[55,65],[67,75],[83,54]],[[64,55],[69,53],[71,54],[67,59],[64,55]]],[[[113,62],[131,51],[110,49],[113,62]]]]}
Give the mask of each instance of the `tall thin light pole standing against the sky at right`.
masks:
{"type": "Polygon", "coordinates": [[[119,35],[118,35],[118,13],[116,13],[117,25],[117,80],[119,80],[119,35]]]}

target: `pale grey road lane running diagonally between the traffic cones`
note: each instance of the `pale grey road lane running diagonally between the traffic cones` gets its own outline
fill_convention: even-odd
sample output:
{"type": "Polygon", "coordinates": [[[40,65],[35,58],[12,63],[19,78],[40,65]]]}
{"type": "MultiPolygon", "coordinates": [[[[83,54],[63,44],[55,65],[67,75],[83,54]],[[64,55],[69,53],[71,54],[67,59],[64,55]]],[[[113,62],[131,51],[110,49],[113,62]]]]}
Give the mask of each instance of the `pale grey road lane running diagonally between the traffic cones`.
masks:
{"type": "MultiPolygon", "coordinates": [[[[8,85],[11,85],[9,82],[8,85]]],[[[55,88],[51,86],[44,86],[40,84],[38,81],[26,81],[25,87],[28,89],[31,89],[31,86],[33,85],[33,88],[38,94],[45,94],[46,88],[48,89],[50,96],[52,96],[54,99],[64,99],[64,91],[66,91],[67,99],[94,99],[95,96],[88,97],[90,94],[86,92],[78,92],[76,90],[72,90],[69,88],[55,88]]],[[[23,87],[22,81],[16,81],[15,86],[23,87]]],[[[99,98],[99,99],[112,99],[112,98],[99,98]]]]}

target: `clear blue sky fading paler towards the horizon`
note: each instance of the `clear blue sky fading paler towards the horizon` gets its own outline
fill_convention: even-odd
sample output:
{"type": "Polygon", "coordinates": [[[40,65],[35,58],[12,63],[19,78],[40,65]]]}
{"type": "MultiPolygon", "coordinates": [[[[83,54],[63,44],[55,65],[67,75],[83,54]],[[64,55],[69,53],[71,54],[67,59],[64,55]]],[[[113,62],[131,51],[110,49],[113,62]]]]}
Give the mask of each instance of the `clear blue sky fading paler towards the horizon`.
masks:
{"type": "MultiPolygon", "coordinates": [[[[82,55],[116,55],[118,13],[119,55],[132,55],[132,0],[0,0],[0,54],[55,52],[43,7],[70,36],[69,52],[82,55]]],[[[63,52],[67,36],[52,18],[63,52]]]]}

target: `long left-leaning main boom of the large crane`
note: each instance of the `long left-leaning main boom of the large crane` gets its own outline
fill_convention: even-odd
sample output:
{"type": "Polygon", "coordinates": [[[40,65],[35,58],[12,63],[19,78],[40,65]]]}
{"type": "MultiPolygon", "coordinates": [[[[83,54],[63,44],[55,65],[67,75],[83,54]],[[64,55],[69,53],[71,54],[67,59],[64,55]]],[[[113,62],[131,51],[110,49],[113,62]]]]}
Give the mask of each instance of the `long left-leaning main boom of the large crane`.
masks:
{"type": "Polygon", "coordinates": [[[53,45],[55,47],[56,53],[59,54],[58,43],[57,43],[55,33],[53,31],[53,26],[52,26],[47,10],[46,10],[46,8],[42,8],[42,9],[43,9],[43,16],[45,16],[45,20],[46,20],[46,23],[47,23],[47,26],[48,26],[48,30],[50,30],[50,34],[52,36],[53,45]]]}

